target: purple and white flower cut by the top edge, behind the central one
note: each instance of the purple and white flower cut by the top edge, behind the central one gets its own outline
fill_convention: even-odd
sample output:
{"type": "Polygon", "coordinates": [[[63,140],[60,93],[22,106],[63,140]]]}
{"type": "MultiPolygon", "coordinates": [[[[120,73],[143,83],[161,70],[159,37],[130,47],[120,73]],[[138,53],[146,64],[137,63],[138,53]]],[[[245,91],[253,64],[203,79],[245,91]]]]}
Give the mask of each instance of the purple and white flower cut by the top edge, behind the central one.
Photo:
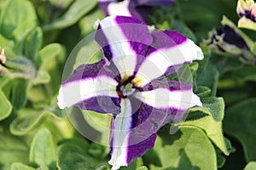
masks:
{"type": "Polygon", "coordinates": [[[174,0],[98,0],[98,2],[106,15],[133,16],[147,22],[152,7],[172,5],[174,0]]]}

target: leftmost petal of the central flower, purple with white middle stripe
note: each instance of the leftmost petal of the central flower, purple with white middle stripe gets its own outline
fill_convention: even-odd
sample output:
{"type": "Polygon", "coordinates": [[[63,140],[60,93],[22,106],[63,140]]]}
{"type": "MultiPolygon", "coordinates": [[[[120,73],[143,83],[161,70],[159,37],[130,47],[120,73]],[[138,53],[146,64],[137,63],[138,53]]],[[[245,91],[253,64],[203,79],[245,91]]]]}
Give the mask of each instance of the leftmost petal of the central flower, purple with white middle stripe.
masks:
{"type": "Polygon", "coordinates": [[[78,105],[84,110],[100,113],[120,112],[118,82],[115,71],[101,60],[95,64],[81,65],[66,82],[61,84],[58,105],[61,109],[78,105]]]}

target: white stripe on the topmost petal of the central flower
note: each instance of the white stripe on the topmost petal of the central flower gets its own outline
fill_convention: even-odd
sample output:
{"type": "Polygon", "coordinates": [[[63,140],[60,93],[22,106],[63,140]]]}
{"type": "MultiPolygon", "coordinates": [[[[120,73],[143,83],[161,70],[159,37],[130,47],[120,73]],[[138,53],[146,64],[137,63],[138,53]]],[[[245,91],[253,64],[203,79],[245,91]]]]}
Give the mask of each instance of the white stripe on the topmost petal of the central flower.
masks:
{"type": "Polygon", "coordinates": [[[108,40],[114,65],[121,77],[129,77],[137,65],[137,53],[131,48],[131,43],[115,21],[116,16],[110,16],[100,22],[102,31],[108,40]]]}

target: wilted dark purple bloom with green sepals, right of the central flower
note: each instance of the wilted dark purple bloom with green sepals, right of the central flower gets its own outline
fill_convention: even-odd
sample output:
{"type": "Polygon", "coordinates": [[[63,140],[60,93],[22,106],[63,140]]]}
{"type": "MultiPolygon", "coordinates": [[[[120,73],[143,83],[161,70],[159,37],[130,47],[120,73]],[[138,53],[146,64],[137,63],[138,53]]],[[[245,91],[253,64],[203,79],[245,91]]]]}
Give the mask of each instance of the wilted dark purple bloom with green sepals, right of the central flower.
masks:
{"type": "Polygon", "coordinates": [[[253,42],[240,31],[228,18],[221,21],[222,26],[209,32],[205,44],[218,54],[240,59],[249,65],[256,64],[256,56],[250,47],[253,42]]]}

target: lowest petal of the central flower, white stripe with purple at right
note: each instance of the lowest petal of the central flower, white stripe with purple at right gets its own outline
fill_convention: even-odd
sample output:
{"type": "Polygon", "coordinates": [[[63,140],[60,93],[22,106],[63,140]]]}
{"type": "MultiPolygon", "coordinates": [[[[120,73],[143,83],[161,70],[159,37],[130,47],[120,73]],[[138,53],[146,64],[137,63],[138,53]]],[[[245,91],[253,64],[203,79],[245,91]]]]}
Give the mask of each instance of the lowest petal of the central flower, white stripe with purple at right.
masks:
{"type": "MultiPolygon", "coordinates": [[[[108,161],[113,166],[112,170],[117,170],[121,166],[128,166],[131,161],[143,156],[147,150],[152,149],[154,146],[156,133],[140,131],[142,130],[141,127],[144,129],[145,126],[133,129],[138,125],[137,123],[146,120],[150,115],[150,111],[144,112],[144,110],[137,108],[137,104],[141,104],[139,100],[136,99],[135,102],[136,104],[134,105],[134,100],[133,104],[131,104],[130,99],[123,99],[121,101],[122,111],[118,116],[114,117],[112,122],[110,136],[111,160],[108,161]],[[144,117],[143,114],[145,115],[144,117]]],[[[152,126],[148,127],[150,129],[152,126]]]]}

